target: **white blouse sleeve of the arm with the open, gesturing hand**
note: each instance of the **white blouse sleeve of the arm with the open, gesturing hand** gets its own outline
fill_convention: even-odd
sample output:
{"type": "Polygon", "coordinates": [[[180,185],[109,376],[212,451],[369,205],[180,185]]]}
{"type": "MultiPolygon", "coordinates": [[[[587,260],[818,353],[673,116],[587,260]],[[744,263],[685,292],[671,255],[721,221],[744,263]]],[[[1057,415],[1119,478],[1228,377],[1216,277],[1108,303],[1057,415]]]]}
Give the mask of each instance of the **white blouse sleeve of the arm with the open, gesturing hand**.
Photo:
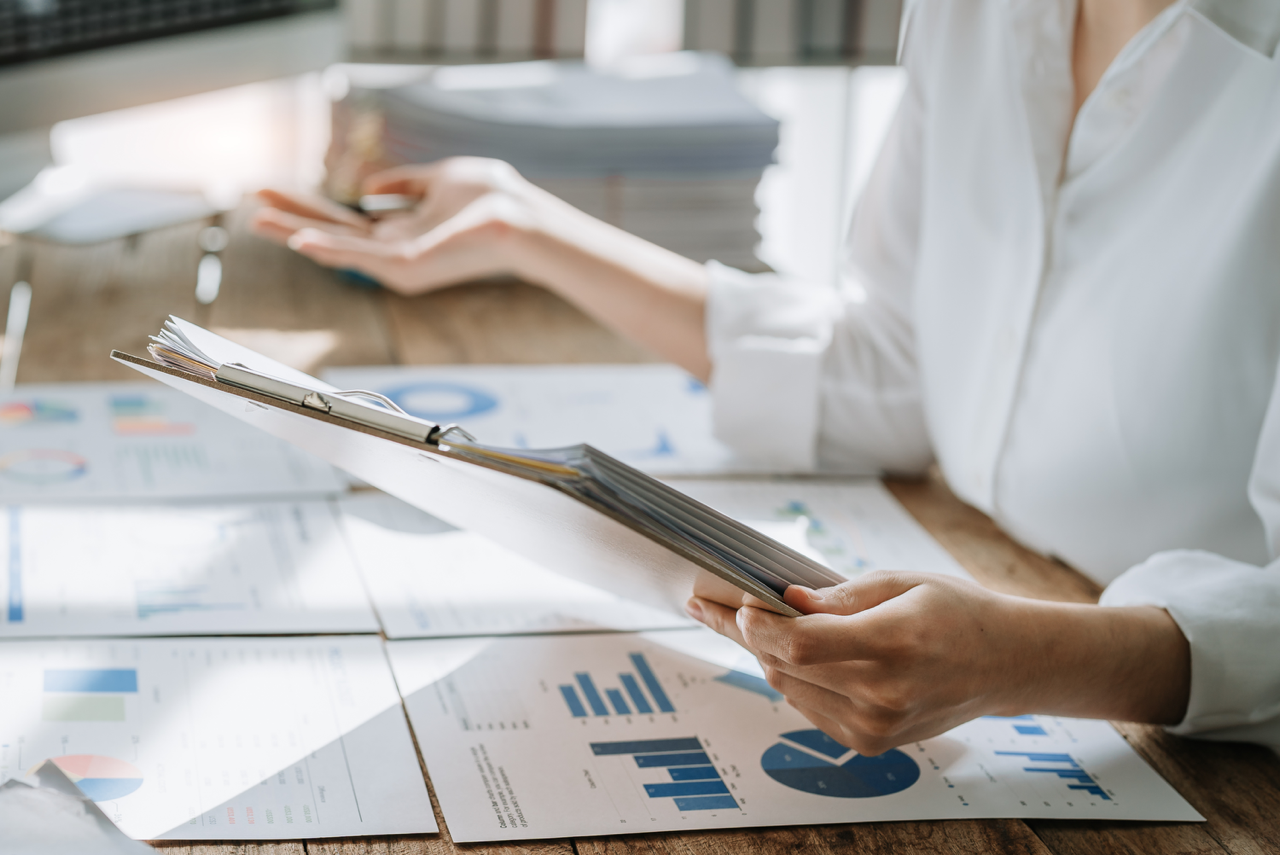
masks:
{"type": "MultiPolygon", "coordinates": [[[[910,82],[845,244],[838,288],[710,262],[717,435],[781,468],[919,472],[932,461],[911,332],[924,105],[910,82]]],[[[920,51],[923,52],[923,51],[920,51]]]]}

